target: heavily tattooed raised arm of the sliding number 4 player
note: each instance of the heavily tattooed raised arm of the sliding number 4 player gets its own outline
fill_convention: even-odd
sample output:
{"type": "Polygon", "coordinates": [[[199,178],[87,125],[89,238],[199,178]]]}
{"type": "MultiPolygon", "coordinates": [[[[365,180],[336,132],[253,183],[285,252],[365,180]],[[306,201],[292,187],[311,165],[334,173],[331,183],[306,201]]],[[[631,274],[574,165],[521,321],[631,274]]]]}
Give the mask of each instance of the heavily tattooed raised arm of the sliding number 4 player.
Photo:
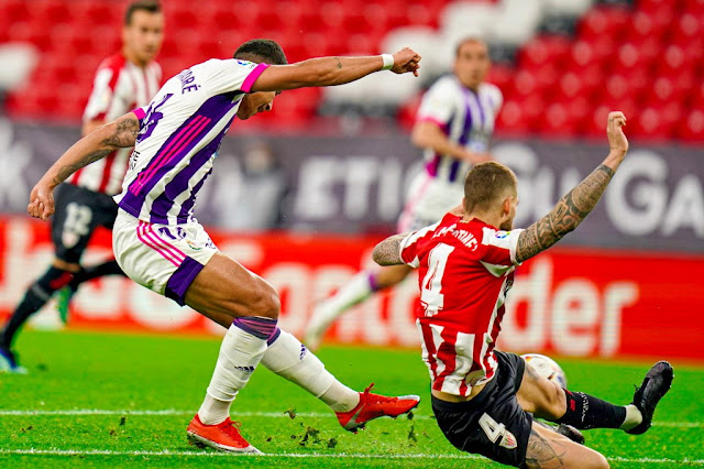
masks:
{"type": "Polygon", "coordinates": [[[623,131],[624,126],[626,126],[626,117],[623,112],[609,112],[606,124],[609,144],[608,156],[592,174],[562,197],[552,211],[520,233],[516,249],[518,262],[530,259],[560,241],[596,207],[606,186],[628,152],[628,140],[623,131]]]}

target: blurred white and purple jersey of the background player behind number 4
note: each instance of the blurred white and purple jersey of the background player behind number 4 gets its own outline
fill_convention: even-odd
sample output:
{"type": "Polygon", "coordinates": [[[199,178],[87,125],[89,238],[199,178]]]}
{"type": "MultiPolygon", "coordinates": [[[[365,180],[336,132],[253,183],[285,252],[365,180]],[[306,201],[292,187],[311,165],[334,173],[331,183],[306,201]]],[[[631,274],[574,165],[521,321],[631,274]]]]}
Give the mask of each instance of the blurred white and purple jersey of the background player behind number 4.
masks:
{"type": "MultiPolygon", "coordinates": [[[[502,107],[502,91],[492,84],[483,83],[474,91],[460,83],[457,76],[448,75],[436,81],[426,92],[418,109],[418,121],[437,123],[452,142],[472,152],[488,152],[494,132],[494,122],[502,107]]],[[[471,164],[450,155],[427,149],[426,171],[432,177],[450,183],[463,183],[471,164]]]]}

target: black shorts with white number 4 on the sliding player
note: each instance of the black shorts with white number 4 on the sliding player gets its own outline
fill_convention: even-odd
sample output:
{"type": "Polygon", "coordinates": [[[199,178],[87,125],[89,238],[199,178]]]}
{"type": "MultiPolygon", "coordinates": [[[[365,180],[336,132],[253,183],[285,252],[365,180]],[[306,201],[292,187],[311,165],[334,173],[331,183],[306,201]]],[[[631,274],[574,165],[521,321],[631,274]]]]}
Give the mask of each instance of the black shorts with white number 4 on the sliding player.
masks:
{"type": "Polygon", "coordinates": [[[462,403],[432,397],[432,411],[440,429],[455,448],[522,467],[532,415],[518,405],[516,393],[526,362],[515,353],[495,353],[496,374],[482,392],[462,403]]]}

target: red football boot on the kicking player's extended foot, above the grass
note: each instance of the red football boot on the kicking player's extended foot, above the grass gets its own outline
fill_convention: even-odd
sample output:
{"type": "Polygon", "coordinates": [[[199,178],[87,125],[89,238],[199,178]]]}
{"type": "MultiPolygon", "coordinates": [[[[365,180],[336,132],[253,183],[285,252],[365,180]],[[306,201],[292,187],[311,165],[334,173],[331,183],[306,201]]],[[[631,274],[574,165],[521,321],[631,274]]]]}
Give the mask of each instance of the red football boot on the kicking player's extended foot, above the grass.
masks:
{"type": "Polygon", "coordinates": [[[372,394],[370,391],[374,383],[370,384],[364,392],[360,393],[360,403],[349,412],[336,412],[340,425],[349,432],[364,428],[364,424],[378,417],[397,417],[410,412],[420,402],[417,395],[402,395],[398,397],[386,397],[385,395],[372,394]]]}

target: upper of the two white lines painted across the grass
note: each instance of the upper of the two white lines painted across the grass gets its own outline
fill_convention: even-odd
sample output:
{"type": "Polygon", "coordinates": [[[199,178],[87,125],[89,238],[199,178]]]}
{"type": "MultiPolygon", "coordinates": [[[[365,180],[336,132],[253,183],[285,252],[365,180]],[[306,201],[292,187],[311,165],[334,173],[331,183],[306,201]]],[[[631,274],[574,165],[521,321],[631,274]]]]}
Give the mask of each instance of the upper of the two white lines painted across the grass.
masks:
{"type": "MultiPolygon", "coordinates": [[[[162,411],[139,411],[139,410],[103,410],[103,408],[73,408],[64,411],[2,411],[2,415],[196,415],[196,411],[179,411],[176,408],[165,408],[162,411]]],[[[283,412],[233,412],[233,417],[268,417],[268,418],[290,418],[288,414],[283,412]]],[[[320,412],[297,412],[296,417],[330,417],[332,413],[320,412]]],[[[402,415],[399,418],[404,418],[402,415]]],[[[430,415],[414,414],[414,421],[431,419],[430,415]]],[[[678,427],[678,428],[700,428],[704,427],[704,422],[653,422],[652,426],[658,427],[678,427]]]]}

